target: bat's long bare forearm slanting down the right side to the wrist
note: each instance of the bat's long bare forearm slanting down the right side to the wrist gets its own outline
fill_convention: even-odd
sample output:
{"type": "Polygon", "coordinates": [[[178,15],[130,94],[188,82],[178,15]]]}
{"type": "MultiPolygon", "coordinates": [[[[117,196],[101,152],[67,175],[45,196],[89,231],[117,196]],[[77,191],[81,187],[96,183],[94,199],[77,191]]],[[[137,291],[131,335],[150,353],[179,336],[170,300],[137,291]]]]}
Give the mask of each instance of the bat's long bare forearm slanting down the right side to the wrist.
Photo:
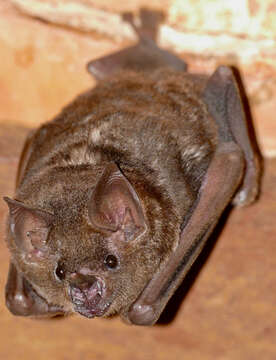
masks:
{"type": "Polygon", "coordinates": [[[133,304],[128,321],[152,325],[158,320],[235,193],[243,167],[242,151],[237,144],[228,142],[218,146],[203,180],[197,205],[180,235],[178,248],[133,304]]]}

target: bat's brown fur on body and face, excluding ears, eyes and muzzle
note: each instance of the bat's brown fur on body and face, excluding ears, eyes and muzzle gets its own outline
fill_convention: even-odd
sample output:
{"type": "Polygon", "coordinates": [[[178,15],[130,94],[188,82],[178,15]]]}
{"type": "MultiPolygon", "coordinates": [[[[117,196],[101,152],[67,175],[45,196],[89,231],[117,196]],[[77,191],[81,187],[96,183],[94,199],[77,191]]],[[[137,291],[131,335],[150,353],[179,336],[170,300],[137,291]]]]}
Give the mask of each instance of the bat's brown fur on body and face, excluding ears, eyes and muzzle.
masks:
{"type": "Polygon", "coordinates": [[[73,311],[68,282],[54,276],[89,267],[105,279],[111,306],[127,309],[179,240],[216,145],[216,130],[200,93],[204,78],[168,69],[121,72],[80,95],[32,137],[15,198],[54,215],[50,256],[29,262],[14,244],[13,262],[36,292],[73,311]],[[137,192],[147,231],[121,247],[94,229],[88,203],[105,167],[115,162],[137,192]],[[116,253],[120,266],[103,259],[116,253]]]}

